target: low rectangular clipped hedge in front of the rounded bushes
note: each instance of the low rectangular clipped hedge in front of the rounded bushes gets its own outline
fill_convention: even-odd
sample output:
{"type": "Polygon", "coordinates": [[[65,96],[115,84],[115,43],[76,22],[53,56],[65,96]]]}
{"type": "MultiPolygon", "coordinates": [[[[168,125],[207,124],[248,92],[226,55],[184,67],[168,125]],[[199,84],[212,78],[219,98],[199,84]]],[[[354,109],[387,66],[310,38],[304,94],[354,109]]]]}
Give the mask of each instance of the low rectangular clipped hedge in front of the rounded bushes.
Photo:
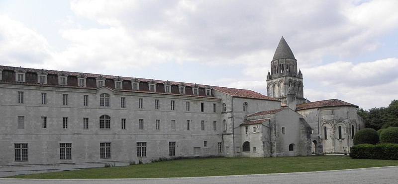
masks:
{"type": "Polygon", "coordinates": [[[358,144],[350,149],[351,158],[398,160],[398,144],[358,144]]]}

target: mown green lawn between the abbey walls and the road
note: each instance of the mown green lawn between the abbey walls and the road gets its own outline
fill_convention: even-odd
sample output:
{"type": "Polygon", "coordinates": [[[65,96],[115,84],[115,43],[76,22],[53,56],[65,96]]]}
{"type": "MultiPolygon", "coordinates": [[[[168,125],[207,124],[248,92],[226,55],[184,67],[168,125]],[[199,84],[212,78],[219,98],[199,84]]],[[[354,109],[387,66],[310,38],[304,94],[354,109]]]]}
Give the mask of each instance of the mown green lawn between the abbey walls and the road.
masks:
{"type": "Polygon", "coordinates": [[[397,165],[398,160],[351,159],[348,156],[205,158],[173,160],[125,167],[108,167],[54,173],[20,175],[10,178],[104,179],[201,177],[325,171],[397,165]]]}

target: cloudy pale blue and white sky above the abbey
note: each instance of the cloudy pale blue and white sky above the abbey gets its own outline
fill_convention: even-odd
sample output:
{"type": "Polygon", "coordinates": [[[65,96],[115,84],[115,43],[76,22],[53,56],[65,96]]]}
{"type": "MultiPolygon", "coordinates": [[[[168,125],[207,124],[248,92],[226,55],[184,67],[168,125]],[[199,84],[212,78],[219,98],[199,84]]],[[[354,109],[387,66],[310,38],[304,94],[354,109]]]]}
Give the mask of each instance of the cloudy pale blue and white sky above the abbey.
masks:
{"type": "Polygon", "coordinates": [[[0,0],[0,65],[250,89],[283,36],[304,97],[398,99],[398,0],[0,0]]]}

